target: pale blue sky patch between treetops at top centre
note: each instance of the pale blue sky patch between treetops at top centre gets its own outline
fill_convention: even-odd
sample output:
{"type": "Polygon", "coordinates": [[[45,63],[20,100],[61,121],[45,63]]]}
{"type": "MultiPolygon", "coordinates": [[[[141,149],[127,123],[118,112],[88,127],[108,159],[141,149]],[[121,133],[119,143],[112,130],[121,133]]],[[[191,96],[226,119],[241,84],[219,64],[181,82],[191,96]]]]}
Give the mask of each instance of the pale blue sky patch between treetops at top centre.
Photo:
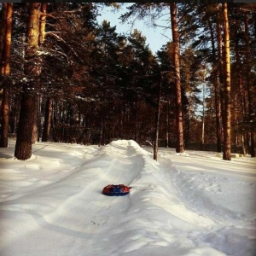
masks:
{"type": "Polygon", "coordinates": [[[131,24],[128,22],[123,24],[121,20],[119,20],[119,16],[123,13],[125,13],[125,7],[120,9],[118,12],[113,12],[110,8],[104,8],[102,9],[101,16],[99,16],[97,20],[99,22],[102,22],[102,20],[108,20],[110,22],[110,26],[116,26],[116,32],[118,33],[129,34],[134,29],[141,31],[143,36],[147,38],[146,42],[149,45],[149,49],[151,49],[153,53],[156,53],[163,45],[171,41],[171,29],[161,27],[168,26],[168,23],[165,20],[169,18],[168,14],[156,22],[157,25],[160,25],[159,27],[148,26],[147,20],[137,20],[134,26],[131,28],[131,24]]]}

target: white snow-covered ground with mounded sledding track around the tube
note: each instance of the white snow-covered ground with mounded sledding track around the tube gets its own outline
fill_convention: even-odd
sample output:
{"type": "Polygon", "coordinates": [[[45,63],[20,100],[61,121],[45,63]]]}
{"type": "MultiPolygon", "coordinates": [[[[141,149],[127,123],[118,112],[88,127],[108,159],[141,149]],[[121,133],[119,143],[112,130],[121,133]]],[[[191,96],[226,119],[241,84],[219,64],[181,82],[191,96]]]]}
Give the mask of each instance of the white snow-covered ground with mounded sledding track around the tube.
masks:
{"type": "Polygon", "coordinates": [[[256,252],[256,170],[250,157],[150,148],[33,145],[0,149],[0,255],[237,255],[256,252]],[[132,187],[109,197],[110,183],[132,187]]]}

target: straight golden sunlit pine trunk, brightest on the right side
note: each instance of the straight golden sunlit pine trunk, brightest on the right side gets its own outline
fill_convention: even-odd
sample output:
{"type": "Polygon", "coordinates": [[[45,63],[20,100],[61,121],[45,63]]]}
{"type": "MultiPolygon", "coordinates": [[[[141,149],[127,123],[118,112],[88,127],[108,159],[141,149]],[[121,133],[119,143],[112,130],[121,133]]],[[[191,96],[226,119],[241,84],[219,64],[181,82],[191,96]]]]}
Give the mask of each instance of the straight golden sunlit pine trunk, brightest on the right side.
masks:
{"type": "Polygon", "coordinates": [[[230,29],[228,18],[228,4],[223,3],[224,16],[224,160],[231,160],[231,101],[230,101],[230,29]]]}

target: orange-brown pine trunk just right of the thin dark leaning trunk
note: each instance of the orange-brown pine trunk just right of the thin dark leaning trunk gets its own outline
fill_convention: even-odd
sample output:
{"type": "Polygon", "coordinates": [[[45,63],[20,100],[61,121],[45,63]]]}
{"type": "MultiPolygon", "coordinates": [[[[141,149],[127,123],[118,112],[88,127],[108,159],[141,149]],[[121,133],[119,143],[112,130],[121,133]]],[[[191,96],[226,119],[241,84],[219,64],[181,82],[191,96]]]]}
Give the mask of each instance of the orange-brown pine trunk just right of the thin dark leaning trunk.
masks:
{"type": "Polygon", "coordinates": [[[172,21],[172,42],[174,45],[173,59],[175,68],[175,85],[176,85],[176,123],[177,123],[177,146],[176,152],[183,153],[183,107],[182,107],[182,90],[179,66],[179,35],[177,31],[177,6],[176,3],[170,3],[171,21],[172,21]]]}

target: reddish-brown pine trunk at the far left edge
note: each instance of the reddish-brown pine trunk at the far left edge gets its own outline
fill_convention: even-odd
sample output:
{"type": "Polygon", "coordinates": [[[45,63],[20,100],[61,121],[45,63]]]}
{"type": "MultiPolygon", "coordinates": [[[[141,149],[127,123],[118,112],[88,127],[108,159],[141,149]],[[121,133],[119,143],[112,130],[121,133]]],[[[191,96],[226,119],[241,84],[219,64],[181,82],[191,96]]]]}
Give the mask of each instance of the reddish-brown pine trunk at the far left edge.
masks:
{"type": "MultiPolygon", "coordinates": [[[[1,26],[3,30],[3,48],[1,46],[1,75],[9,77],[10,74],[10,51],[11,51],[11,34],[12,34],[12,16],[13,16],[13,3],[3,3],[3,23],[1,26]]],[[[1,36],[2,39],[2,36],[1,36]]],[[[1,124],[1,136],[0,147],[8,147],[8,134],[9,134],[9,81],[7,80],[3,89],[3,101],[2,101],[2,124],[1,124]]]]}

